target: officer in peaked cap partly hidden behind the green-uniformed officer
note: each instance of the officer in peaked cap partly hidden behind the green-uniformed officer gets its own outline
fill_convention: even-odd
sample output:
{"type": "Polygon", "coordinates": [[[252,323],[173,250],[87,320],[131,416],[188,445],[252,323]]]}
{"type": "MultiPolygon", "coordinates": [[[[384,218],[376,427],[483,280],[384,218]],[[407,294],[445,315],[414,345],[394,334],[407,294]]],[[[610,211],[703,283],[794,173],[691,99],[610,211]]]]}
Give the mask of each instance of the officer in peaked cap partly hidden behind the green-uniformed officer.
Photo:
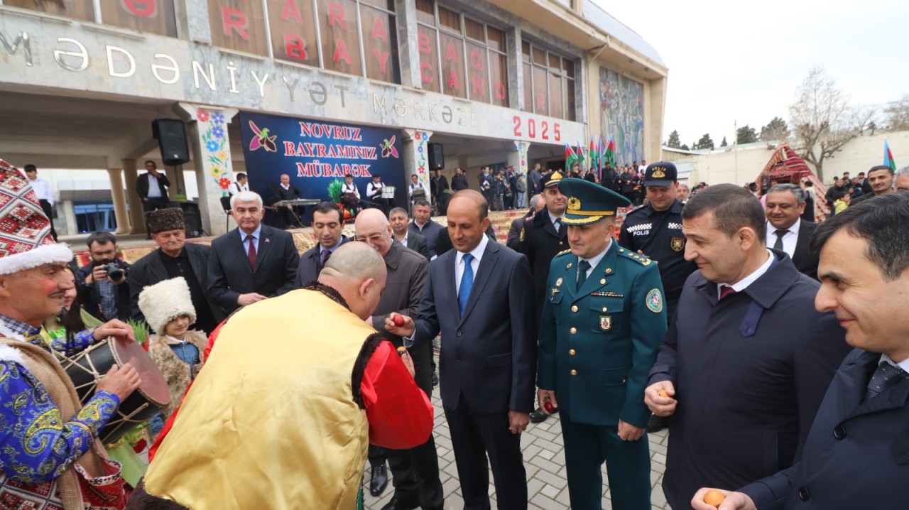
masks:
{"type": "MultiPolygon", "coordinates": [[[[527,261],[530,262],[530,273],[534,275],[534,327],[539,325],[540,316],[543,314],[549,265],[555,254],[568,248],[568,228],[562,224],[567,199],[557,187],[563,177],[559,171],[543,175],[541,185],[546,206],[532,219],[524,222],[524,229],[519,236],[518,251],[527,257],[527,261]]],[[[554,409],[553,412],[558,410],[554,409]]],[[[530,421],[538,424],[548,416],[538,408],[530,414],[530,421]]]]}

